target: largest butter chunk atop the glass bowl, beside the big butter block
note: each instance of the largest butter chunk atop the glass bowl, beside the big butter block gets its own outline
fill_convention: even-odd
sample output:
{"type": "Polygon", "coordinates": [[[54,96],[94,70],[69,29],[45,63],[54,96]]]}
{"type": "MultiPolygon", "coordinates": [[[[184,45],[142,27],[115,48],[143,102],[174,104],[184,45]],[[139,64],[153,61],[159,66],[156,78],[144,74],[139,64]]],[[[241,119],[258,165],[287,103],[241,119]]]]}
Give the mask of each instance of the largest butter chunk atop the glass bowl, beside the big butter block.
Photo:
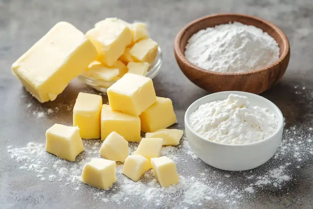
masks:
{"type": "Polygon", "coordinates": [[[95,45],[97,60],[112,66],[124,54],[126,46],[131,44],[132,32],[124,24],[105,21],[87,31],[86,37],[95,45]]]}

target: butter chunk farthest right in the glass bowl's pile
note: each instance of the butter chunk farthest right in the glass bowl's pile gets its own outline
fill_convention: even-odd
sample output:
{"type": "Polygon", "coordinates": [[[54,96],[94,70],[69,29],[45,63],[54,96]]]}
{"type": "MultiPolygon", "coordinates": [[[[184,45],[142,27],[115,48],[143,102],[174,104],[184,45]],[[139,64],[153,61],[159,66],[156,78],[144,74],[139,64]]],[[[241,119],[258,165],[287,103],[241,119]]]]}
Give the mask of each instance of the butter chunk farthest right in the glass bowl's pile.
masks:
{"type": "Polygon", "coordinates": [[[157,55],[157,43],[152,39],[143,39],[137,42],[130,50],[136,62],[153,63],[157,55]]]}

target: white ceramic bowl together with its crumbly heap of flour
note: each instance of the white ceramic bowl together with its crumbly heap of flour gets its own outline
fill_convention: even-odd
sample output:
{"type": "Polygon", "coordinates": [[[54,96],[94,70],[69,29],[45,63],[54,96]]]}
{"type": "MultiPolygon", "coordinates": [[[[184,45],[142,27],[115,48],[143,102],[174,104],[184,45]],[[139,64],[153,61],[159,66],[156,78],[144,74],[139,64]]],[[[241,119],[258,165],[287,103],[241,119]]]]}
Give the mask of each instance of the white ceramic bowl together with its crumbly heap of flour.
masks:
{"type": "Polygon", "coordinates": [[[193,102],[185,113],[190,147],[222,170],[249,170],[268,161],[282,138],[284,117],[269,100],[242,91],[224,91],[193,102]]]}

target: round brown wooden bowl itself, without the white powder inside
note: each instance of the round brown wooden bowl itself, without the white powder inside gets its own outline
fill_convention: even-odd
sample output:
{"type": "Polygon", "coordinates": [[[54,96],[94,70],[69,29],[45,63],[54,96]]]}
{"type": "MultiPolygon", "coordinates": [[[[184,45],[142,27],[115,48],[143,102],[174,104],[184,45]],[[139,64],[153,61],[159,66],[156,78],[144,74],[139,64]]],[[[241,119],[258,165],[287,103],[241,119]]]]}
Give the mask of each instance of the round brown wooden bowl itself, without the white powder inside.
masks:
{"type": "Polygon", "coordinates": [[[174,42],[174,53],[182,72],[194,84],[210,92],[246,91],[260,94],[271,88],[284,75],[290,59],[289,41],[274,24],[245,14],[215,14],[192,21],[179,31],[174,42]],[[229,22],[254,25],[272,36],[280,47],[280,58],[263,69],[245,73],[221,73],[204,70],[193,65],[185,57],[189,38],[199,30],[229,22]]]}

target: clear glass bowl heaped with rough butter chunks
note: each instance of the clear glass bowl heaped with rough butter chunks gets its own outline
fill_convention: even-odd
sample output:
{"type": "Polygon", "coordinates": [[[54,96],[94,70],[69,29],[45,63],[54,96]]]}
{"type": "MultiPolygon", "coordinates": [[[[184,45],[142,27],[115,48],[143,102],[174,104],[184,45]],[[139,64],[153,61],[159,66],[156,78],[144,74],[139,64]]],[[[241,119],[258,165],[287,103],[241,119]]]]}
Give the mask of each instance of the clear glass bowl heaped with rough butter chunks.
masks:
{"type": "Polygon", "coordinates": [[[98,91],[106,93],[127,72],[153,79],[160,71],[161,48],[149,37],[144,23],[105,18],[85,35],[98,56],[78,79],[98,91]]]}

